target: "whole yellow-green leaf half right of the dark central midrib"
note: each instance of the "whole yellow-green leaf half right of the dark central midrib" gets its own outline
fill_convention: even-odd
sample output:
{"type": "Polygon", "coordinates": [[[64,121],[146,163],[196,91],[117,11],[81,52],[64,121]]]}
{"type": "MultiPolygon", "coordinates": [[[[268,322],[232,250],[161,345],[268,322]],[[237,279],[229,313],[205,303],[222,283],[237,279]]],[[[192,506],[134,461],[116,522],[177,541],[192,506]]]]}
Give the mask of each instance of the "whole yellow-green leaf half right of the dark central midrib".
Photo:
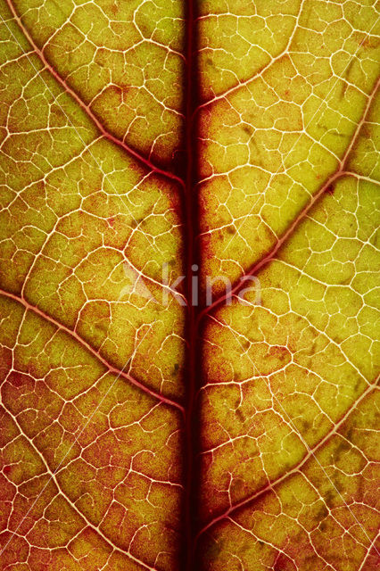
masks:
{"type": "Polygon", "coordinates": [[[375,571],[376,3],[203,6],[199,569],[375,571]]]}

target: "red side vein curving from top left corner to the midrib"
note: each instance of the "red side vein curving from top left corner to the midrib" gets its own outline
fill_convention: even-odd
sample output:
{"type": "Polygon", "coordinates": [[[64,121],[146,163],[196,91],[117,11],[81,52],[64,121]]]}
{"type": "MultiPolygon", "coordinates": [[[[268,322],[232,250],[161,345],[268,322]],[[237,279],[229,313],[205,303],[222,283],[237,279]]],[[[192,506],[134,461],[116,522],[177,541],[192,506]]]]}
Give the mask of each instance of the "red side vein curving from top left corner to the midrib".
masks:
{"type": "MultiPolygon", "coordinates": [[[[89,105],[87,105],[84,101],[82,101],[82,99],[79,97],[76,91],[72,87],[70,87],[67,81],[63,79],[61,75],[54,69],[51,63],[47,61],[43,50],[37,46],[33,37],[30,35],[29,30],[22,23],[21,16],[19,16],[18,12],[13,6],[12,0],[5,0],[5,2],[8,5],[9,10],[12,12],[12,16],[14,20],[17,22],[19,28],[21,29],[22,34],[29,41],[30,46],[32,46],[33,48],[33,52],[38,56],[40,61],[44,64],[45,69],[51,73],[51,75],[54,77],[56,81],[58,81],[58,83],[63,87],[65,92],[71,95],[71,97],[78,103],[78,105],[80,105],[80,108],[86,113],[89,120],[92,121],[92,123],[95,125],[98,131],[103,135],[103,137],[111,141],[114,145],[118,145],[128,154],[132,155],[137,161],[142,162],[145,165],[145,167],[147,167],[149,170],[152,170],[156,174],[159,174],[165,178],[175,180],[180,186],[184,186],[182,178],[179,178],[177,175],[170,172],[169,170],[160,169],[160,167],[153,164],[152,161],[149,161],[149,159],[145,158],[145,156],[143,156],[142,154],[137,153],[135,149],[127,145],[124,141],[121,141],[118,137],[112,135],[112,133],[110,133],[103,126],[102,122],[96,117],[95,113],[91,110],[89,105]]],[[[70,120],[70,118],[68,119],[70,120]]]]}

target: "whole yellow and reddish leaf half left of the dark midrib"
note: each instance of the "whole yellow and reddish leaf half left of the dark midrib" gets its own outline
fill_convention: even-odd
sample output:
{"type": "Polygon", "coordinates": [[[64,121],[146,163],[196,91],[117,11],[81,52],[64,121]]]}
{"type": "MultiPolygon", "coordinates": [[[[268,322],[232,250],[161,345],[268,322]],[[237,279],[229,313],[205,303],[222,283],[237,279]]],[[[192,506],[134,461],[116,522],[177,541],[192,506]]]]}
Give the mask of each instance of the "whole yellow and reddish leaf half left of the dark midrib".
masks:
{"type": "Polygon", "coordinates": [[[178,566],[181,13],[1,3],[1,569],[178,566]]]}

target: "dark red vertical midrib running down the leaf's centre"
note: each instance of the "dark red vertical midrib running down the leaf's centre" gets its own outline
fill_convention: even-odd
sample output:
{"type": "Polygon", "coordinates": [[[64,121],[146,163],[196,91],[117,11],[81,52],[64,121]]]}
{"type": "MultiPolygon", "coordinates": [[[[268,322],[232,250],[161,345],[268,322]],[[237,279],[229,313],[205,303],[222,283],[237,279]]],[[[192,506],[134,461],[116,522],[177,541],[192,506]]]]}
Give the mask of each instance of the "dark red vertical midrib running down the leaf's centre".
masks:
{"type": "Polygon", "coordinates": [[[198,229],[198,201],[196,193],[197,164],[194,160],[197,150],[196,129],[193,115],[199,99],[198,70],[196,50],[196,0],[186,1],[186,91],[185,91],[185,146],[186,146],[186,193],[184,202],[185,211],[185,244],[186,244],[186,361],[184,368],[184,382],[186,388],[185,413],[185,494],[184,494],[184,534],[182,553],[180,557],[180,571],[194,571],[194,536],[196,534],[196,502],[198,477],[195,469],[195,455],[197,451],[197,423],[195,418],[194,400],[196,393],[197,372],[200,363],[197,357],[197,313],[198,308],[193,303],[193,276],[199,268],[199,252],[196,246],[198,229]],[[194,49],[195,48],[195,49],[194,49]],[[197,269],[193,271],[194,264],[197,269]]]}

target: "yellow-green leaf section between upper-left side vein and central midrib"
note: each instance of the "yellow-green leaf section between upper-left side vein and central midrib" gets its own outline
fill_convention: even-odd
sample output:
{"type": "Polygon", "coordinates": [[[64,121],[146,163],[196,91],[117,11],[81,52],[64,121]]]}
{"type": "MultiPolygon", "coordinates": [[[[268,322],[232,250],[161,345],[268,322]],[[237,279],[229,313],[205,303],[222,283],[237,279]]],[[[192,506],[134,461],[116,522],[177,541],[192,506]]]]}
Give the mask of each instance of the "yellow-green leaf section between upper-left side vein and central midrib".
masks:
{"type": "Polygon", "coordinates": [[[104,128],[157,161],[171,160],[183,124],[180,2],[12,3],[47,61],[104,128]]]}

